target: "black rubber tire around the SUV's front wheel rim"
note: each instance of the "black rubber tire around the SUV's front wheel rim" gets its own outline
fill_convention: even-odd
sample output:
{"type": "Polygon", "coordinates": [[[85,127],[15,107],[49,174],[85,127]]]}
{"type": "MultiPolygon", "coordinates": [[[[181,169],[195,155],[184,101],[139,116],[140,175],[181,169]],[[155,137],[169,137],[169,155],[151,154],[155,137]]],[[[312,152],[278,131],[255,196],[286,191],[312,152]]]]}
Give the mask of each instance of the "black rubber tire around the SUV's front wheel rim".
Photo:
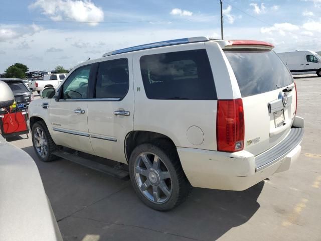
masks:
{"type": "MultiPolygon", "coordinates": [[[[36,134],[37,135],[37,134],[36,134]]],[[[33,127],[32,127],[32,131],[31,131],[31,137],[32,137],[32,144],[34,146],[34,150],[38,156],[38,158],[43,161],[43,162],[51,162],[55,159],[57,159],[57,156],[53,155],[53,153],[55,151],[57,151],[57,145],[54,143],[54,141],[52,140],[51,136],[50,136],[50,133],[48,131],[48,128],[45,124],[44,121],[39,121],[39,122],[36,122],[33,127]],[[39,153],[39,151],[37,150],[37,147],[36,147],[36,143],[38,141],[36,141],[35,139],[37,139],[35,137],[35,134],[37,132],[37,128],[39,128],[43,134],[44,134],[44,139],[46,140],[47,142],[47,153],[45,156],[41,156],[41,153],[39,153]]]]}

